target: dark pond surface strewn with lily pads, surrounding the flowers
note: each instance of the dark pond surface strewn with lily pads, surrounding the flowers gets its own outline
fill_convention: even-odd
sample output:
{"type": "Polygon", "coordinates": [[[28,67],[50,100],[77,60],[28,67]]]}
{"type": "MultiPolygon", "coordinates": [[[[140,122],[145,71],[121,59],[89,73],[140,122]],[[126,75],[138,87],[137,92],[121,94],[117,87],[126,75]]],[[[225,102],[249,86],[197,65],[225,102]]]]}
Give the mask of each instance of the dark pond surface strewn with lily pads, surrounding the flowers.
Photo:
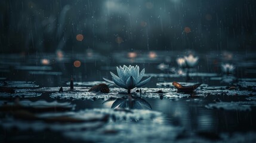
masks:
{"type": "Polygon", "coordinates": [[[186,69],[176,64],[181,53],[156,54],[153,59],[147,54],[129,58],[122,52],[111,58],[76,54],[61,60],[51,54],[1,55],[0,141],[256,141],[254,54],[246,58],[235,54],[232,63],[236,69],[229,75],[220,65],[230,60],[215,54],[199,55],[198,66],[190,69],[189,77],[186,69]],[[81,66],[75,67],[76,60],[81,66]],[[102,77],[111,79],[109,71],[116,73],[116,66],[123,64],[138,65],[146,69],[146,77],[152,76],[141,94],[137,89],[124,94],[125,89],[109,84],[108,94],[88,92],[105,83],[102,77]],[[69,90],[71,77],[73,91],[69,90]],[[17,80],[20,82],[14,82],[17,80]],[[174,81],[203,84],[193,94],[183,94],[172,86],[174,81]],[[60,86],[64,92],[58,92],[60,86]],[[115,101],[130,108],[113,110],[115,101]],[[18,108],[17,103],[21,105],[18,108]]]}

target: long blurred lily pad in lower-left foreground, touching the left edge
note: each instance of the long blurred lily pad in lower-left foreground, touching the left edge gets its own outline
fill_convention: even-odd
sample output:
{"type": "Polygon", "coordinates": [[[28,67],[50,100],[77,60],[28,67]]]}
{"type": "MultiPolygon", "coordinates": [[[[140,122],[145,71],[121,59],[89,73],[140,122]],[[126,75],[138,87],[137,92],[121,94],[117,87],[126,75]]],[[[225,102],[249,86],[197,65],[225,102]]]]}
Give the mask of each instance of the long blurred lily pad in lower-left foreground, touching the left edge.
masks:
{"type": "Polygon", "coordinates": [[[56,130],[67,132],[71,130],[91,130],[100,128],[108,120],[109,116],[106,114],[93,113],[91,111],[79,112],[64,112],[64,113],[45,113],[34,114],[35,120],[19,120],[7,118],[0,122],[0,126],[5,129],[12,129],[14,127],[20,130],[56,130]]]}

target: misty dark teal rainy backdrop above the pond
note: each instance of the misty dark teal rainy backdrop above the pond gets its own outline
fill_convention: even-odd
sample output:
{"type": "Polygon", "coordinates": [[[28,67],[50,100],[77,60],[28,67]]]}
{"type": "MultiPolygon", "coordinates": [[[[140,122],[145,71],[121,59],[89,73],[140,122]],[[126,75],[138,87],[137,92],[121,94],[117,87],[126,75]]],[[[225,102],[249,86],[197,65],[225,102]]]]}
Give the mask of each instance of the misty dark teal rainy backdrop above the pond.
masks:
{"type": "Polygon", "coordinates": [[[0,52],[255,51],[255,3],[1,0],[0,52]]]}

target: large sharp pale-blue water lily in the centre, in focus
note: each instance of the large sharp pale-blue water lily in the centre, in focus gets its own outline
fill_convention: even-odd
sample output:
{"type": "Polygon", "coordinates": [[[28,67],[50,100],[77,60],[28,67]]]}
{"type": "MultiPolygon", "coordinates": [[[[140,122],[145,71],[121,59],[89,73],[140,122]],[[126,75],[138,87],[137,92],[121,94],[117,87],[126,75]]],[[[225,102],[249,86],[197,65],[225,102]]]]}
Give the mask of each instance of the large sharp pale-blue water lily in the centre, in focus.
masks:
{"type": "Polygon", "coordinates": [[[131,93],[131,89],[139,88],[143,85],[146,85],[151,79],[151,77],[149,77],[146,80],[140,81],[145,73],[145,69],[139,72],[140,67],[138,67],[137,65],[135,67],[131,65],[129,65],[129,67],[125,65],[124,67],[116,67],[116,71],[118,71],[118,76],[110,71],[113,81],[105,79],[104,77],[103,79],[106,80],[106,82],[112,83],[113,85],[128,89],[128,94],[131,93]]]}

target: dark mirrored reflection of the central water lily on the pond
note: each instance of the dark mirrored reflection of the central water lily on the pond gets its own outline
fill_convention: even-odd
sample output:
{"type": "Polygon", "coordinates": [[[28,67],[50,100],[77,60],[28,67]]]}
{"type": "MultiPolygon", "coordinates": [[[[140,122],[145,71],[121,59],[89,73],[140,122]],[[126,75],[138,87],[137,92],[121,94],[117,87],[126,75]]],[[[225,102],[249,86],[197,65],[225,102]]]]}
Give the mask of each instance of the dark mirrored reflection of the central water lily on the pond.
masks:
{"type": "Polygon", "coordinates": [[[121,98],[109,98],[109,100],[106,100],[103,103],[110,101],[115,101],[111,108],[152,109],[149,102],[137,96],[130,95],[121,98]]]}

